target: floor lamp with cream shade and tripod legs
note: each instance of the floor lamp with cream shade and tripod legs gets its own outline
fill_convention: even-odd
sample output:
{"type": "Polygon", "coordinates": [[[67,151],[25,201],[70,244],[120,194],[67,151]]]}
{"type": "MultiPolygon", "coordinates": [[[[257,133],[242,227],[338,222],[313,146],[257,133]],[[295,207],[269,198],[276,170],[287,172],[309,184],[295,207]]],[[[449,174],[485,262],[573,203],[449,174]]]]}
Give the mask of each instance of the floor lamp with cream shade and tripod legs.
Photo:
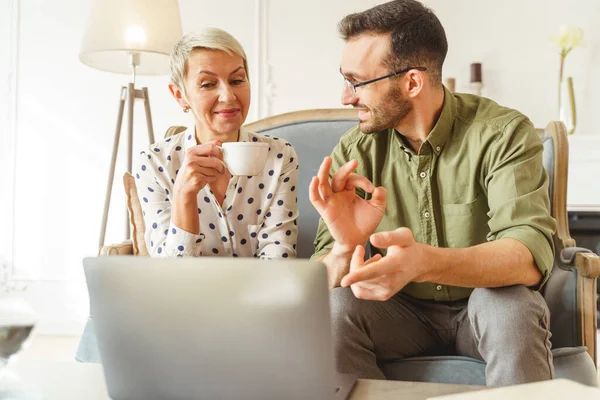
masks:
{"type": "MultiPolygon", "coordinates": [[[[104,213],[98,246],[104,245],[112,185],[125,104],[127,104],[127,171],[133,157],[133,106],[144,102],[148,139],[154,143],[148,88],[136,89],[137,75],[163,75],[169,71],[169,54],[181,37],[177,0],[92,0],[79,59],[102,71],[130,74],[131,81],[121,88],[112,158],[106,185],[104,213]]],[[[129,239],[129,218],[125,208],[125,239],[129,239]]]]}

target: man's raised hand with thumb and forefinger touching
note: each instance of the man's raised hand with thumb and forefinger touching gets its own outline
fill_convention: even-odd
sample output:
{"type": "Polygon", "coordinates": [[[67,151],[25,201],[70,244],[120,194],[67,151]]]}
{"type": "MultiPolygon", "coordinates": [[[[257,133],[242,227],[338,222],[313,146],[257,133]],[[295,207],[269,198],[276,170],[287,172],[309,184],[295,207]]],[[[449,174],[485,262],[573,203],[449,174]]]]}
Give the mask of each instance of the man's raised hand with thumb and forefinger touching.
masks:
{"type": "Polygon", "coordinates": [[[325,157],[318,176],[310,182],[310,202],[327,224],[336,242],[334,249],[351,257],[356,246],[364,245],[381,222],[387,191],[383,187],[375,188],[367,178],[352,173],[358,166],[356,160],[341,166],[330,184],[331,164],[331,158],[325,157]],[[356,195],[356,188],[371,193],[371,200],[356,195]]]}

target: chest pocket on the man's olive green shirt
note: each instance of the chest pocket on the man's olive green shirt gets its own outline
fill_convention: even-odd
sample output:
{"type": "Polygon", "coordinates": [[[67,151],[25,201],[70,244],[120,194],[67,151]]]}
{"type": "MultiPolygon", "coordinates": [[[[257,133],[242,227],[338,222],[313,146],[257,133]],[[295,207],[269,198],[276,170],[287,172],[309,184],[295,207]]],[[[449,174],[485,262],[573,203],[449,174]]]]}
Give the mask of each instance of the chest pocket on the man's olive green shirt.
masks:
{"type": "Polygon", "coordinates": [[[443,231],[447,247],[465,248],[485,243],[487,225],[486,198],[479,194],[468,203],[444,204],[443,231]]]}

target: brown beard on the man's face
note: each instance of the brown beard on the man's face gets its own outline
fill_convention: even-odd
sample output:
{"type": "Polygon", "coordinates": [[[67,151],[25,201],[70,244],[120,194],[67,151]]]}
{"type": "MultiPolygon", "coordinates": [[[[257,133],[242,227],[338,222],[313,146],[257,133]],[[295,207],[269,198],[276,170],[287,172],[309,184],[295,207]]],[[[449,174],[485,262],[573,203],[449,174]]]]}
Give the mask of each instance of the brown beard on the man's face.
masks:
{"type": "MultiPolygon", "coordinates": [[[[363,108],[362,105],[355,107],[363,108]]],[[[369,120],[361,121],[359,128],[363,133],[374,133],[396,127],[412,111],[413,105],[402,97],[398,88],[388,91],[377,106],[368,107],[369,120]]]]}

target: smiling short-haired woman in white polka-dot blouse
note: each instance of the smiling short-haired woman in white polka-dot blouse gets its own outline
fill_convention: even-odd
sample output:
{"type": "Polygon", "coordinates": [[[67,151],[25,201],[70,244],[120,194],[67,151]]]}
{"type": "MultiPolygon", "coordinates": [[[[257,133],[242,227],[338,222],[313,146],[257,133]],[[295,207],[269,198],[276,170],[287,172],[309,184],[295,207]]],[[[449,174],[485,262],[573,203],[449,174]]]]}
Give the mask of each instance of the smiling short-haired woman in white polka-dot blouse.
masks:
{"type": "Polygon", "coordinates": [[[248,63],[229,33],[183,36],[171,53],[169,89],[194,129],[141,152],[136,184],[154,257],[296,255],[298,157],[289,143],[244,132],[248,63]],[[232,176],[218,146],[269,144],[258,176],[232,176]]]}

